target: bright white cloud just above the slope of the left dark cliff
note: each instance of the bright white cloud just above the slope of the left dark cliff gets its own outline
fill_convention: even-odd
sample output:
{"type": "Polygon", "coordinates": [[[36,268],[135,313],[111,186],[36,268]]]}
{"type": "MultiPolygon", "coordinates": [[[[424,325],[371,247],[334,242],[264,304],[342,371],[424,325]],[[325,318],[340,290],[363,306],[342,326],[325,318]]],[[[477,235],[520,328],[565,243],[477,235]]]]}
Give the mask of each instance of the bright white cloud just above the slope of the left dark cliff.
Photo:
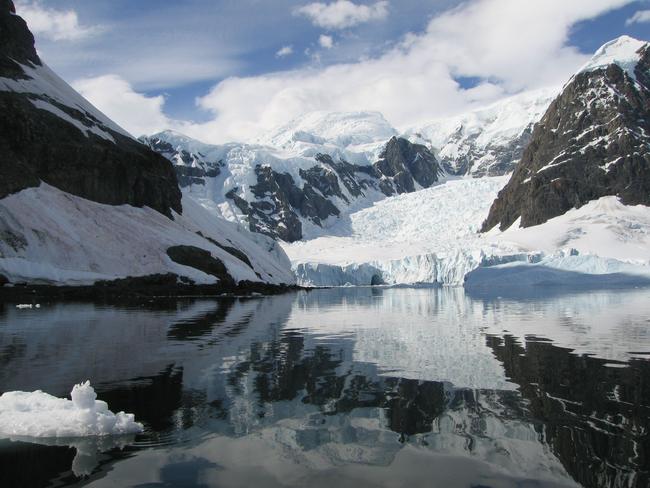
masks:
{"type": "Polygon", "coordinates": [[[74,88],[109,118],[134,136],[153,134],[175,123],[164,113],[163,96],[147,97],[116,75],[88,78],[73,83],[74,88]]]}

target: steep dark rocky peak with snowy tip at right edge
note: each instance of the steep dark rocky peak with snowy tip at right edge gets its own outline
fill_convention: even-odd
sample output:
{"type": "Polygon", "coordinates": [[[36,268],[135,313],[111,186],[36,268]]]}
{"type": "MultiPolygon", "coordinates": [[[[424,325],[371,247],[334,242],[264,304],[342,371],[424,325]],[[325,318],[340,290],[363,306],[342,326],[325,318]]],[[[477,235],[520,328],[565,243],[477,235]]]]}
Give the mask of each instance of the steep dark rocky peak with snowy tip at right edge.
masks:
{"type": "Polygon", "coordinates": [[[649,69],[647,43],[603,46],[535,127],[483,230],[538,225],[608,195],[650,205],[649,69]]]}

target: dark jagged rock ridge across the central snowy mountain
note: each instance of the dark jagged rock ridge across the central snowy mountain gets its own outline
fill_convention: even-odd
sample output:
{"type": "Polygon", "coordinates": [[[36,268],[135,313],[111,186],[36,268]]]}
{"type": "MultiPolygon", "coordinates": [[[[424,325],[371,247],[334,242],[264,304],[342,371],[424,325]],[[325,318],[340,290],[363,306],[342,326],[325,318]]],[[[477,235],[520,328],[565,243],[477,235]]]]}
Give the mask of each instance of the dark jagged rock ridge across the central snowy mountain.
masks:
{"type": "Polygon", "coordinates": [[[441,172],[426,147],[398,138],[388,142],[373,166],[335,162],[326,154],[318,154],[315,159],[321,164],[299,170],[301,186],[288,173],[258,165],[257,184],[250,188],[255,199],[243,199],[238,189],[226,197],[248,217],[250,230],[293,242],[303,236],[303,220],[322,227],[326,220],[340,215],[337,204],[350,204],[364,197],[369,189],[387,196],[413,192],[416,185],[431,186],[441,172]]]}

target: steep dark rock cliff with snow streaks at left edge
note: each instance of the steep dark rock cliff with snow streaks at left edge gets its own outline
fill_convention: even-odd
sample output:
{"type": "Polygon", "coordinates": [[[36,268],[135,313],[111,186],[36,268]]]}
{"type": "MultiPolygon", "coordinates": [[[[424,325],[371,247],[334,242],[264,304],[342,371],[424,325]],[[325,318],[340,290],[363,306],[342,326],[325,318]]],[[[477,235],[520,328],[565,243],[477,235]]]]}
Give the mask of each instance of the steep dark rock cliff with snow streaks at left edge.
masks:
{"type": "Polygon", "coordinates": [[[42,64],[10,3],[0,3],[0,198],[44,181],[98,203],[180,213],[171,165],[42,64]]]}

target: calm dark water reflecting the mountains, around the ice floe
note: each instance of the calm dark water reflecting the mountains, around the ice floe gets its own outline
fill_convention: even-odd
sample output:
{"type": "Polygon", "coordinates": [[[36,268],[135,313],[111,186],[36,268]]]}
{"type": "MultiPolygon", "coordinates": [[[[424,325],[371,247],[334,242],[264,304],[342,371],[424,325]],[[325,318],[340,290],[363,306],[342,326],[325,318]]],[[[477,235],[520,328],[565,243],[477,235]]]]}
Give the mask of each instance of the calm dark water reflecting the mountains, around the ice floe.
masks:
{"type": "Polygon", "coordinates": [[[0,486],[647,487],[650,291],[0,305],[0,393],[127,438],[0,440],[0,486]]]}

